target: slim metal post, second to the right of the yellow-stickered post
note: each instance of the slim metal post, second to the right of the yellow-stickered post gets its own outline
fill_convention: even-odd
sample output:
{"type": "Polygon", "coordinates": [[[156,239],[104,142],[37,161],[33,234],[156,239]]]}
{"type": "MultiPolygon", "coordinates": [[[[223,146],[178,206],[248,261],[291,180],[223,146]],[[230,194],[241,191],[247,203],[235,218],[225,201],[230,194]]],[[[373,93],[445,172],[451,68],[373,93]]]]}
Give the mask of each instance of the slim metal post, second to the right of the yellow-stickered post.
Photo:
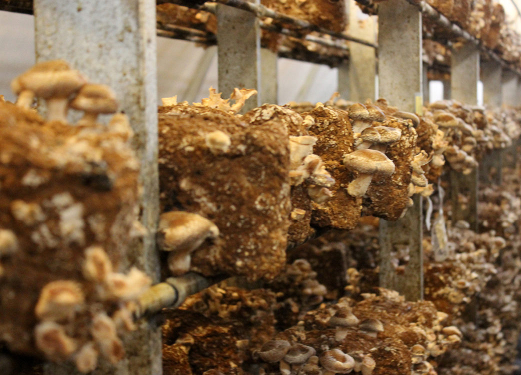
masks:
{"type": "MultiPolygon", "coordinates": [[[[483,104],[500,107],[501,66],[495,61],[480,61],[480,76],[483,82],[483,104]]],[[[479,163],[479,180],[499,184],[502,181],[503,149],[492,150],[479,163]]]]}

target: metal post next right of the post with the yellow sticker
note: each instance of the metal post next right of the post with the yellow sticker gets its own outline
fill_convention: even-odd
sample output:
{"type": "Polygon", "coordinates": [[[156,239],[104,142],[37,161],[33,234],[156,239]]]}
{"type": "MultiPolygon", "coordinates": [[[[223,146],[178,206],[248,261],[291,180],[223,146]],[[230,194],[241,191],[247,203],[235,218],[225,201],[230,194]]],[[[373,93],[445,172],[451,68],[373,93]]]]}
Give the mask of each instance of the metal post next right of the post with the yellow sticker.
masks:
{"type": "MultiPolygon", "coordinates": [[[[452,98],[469,105],[478,104],[479,50],[470,43],[452,50],[452,98]]],[[[478,168],[467,175],[451,171],[452,220],[465,220],[478,229],[478,168]]]]}

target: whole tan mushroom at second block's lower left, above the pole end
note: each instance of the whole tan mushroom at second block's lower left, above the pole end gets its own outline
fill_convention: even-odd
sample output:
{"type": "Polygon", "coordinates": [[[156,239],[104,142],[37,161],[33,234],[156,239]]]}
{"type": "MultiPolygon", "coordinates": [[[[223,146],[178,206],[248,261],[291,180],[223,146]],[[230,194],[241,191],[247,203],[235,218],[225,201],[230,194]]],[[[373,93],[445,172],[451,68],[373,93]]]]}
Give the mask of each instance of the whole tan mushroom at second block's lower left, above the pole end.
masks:
{"type": "Polygon", "coordinates": [[[157,244],[170,252],[168,267],[179,276],[190,270],[190,253],[207,239],[215,239],[219,229],[210,220],[190,212],[170,211],[161,214],[156,235],[157,244]]]}

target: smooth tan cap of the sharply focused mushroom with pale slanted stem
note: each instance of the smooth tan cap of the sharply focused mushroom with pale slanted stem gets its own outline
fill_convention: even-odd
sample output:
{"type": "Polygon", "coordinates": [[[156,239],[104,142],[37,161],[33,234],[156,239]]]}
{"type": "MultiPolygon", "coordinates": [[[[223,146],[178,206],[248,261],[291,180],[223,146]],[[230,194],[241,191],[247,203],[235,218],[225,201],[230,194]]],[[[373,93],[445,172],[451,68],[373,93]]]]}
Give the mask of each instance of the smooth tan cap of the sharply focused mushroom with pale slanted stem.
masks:
{"type": "Polygon", "coordinates": [[[380,173],[385,176],[394,173],[392,160],[373,149],[358,149],[345,155],[344,165],[360,173],[380,173]]]}

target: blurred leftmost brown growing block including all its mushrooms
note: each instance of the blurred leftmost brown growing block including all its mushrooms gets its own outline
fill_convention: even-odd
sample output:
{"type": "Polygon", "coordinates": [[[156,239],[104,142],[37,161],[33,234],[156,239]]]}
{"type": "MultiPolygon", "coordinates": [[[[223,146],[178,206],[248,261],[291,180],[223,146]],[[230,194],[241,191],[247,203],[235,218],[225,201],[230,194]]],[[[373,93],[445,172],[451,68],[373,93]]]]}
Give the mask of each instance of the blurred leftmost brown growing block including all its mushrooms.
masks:
{"type": "Polygon", "coordinates": [[[151,283],[137,268],[120,272],[142,235],[132,129],[115,114],[115,93],[63,60],[40,62],[11,86],[16,104],[0,102],[0,336],[13,351],[81,372],[98,357],[115,364],[132,305],[151,283]],[[69,109],[84,113],[76,126],[69,109]],[[114,116],[103,124],[101,114],[114,116]]]}

